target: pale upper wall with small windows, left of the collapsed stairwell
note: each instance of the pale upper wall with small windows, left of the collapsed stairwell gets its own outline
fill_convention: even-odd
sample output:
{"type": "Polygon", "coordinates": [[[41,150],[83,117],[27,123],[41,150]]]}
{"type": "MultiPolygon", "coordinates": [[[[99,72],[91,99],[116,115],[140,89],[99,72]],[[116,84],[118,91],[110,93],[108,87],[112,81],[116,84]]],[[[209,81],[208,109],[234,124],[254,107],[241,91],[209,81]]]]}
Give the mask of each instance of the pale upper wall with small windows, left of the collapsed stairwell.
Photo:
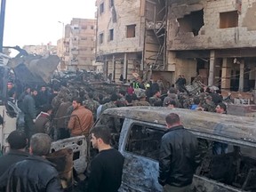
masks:
{"type": "Polygon", "coordinates": [[[98,32],[97,55],[114,52],[142,52],[144,43],[144,26],[141,26],[140,0],[114,1],[110,7],[109,0],[97,0],[98,32]],[[104,3],[104,12],[100,14],[100,4],[104,3]],[[126,37],[126,26],[136,25],[135,37],[126,37]],[[114,38],[109,40],[109,30],[114,29],[114,38]],[[100,34],[103,43],[100,44],[100,34]]]}

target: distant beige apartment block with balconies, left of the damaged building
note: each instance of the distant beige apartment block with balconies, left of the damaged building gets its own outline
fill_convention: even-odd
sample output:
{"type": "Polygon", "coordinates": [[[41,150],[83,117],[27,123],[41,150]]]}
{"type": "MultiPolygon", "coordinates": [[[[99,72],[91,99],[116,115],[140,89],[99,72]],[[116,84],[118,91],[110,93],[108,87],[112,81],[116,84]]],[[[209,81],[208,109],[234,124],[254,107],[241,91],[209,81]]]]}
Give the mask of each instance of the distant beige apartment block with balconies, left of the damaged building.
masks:
{"type": "Polygon", "coordinates": [[[58,55],[68,70],[94,70],[96,20],[73,18],[58,40],[58,55]]]}

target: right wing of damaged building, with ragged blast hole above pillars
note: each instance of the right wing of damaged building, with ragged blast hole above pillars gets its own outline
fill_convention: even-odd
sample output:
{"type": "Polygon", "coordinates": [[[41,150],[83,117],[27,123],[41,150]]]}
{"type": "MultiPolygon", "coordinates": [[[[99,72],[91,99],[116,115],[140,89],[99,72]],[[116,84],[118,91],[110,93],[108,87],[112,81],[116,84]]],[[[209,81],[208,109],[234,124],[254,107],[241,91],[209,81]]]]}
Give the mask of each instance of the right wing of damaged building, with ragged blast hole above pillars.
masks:
{"type": "Polygon", "coordinates": [[[221,89],[255,89],[255,12],[255,0],[169,1],[168,70],[221,89]]]}

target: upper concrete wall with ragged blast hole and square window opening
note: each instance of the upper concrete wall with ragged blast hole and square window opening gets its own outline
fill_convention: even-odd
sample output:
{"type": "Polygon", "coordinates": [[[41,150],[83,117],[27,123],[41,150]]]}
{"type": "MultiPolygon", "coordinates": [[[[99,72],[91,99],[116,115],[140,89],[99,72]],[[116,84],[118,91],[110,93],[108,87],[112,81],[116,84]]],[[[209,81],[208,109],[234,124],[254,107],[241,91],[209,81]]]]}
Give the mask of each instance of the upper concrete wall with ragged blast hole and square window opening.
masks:
{"type": "MultiPolygon", "coordinates": [[[[236,0],[194,0],[172,3],[169,7],[168,16],[168,49],[200,50],[255,47],[256,0],[241,2],[242,8],[241,14],[238,14],[238,27],[235,28],[220,28],[220,12],[236,11],[238,6],[236,0]],[[180,27],[182,23],[179,23],[179,19],[202,9],[204,11],[204,26],[198,31],[198,35],[195,36],[193,32],[182,31],[182,26],[180,27]]],[[[190,24],[193,27],[193,23],[190,24]]]]}

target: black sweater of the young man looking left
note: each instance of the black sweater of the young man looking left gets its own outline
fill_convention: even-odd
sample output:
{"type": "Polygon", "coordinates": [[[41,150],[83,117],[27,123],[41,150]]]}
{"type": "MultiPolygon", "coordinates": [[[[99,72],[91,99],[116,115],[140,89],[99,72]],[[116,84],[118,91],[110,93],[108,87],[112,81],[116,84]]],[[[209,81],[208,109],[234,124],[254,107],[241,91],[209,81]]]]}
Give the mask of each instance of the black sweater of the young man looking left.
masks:
{"type": "Polygon", "coordinates": [[[116,192],[122,182],[124,156],[115,148],[102,150],[91,163],[88,191],[116,192]]]}

